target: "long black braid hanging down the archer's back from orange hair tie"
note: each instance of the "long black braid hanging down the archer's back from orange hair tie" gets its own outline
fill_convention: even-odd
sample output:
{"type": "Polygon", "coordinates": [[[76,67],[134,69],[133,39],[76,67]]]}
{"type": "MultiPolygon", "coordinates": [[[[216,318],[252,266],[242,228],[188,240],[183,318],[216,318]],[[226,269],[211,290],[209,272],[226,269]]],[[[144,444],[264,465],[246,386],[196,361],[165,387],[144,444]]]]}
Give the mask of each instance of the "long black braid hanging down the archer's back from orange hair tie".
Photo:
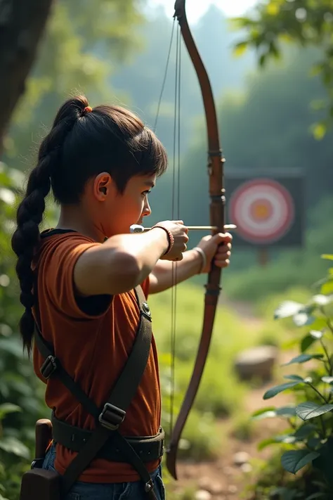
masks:
{"type": "Polygon", "coordinates": [[[45,198],[50,192],[51,176],[57,166],[65,138],[71,132],[86,105],[88,101],[80,96],[70,99],[60,108],[51,132],[41,143],[37,166],[30,174],[25,197],[18,207],[17,229],[13,234],[11,244],[18,256],[16,273],[20,281],[20,302],[25,307],[25,312],[20,319],[20,333],[23,348],[27,349],[28,354],[31,354],[34,334],[32,259],[40,241],[39,224],[43,219],[45,198]]]}

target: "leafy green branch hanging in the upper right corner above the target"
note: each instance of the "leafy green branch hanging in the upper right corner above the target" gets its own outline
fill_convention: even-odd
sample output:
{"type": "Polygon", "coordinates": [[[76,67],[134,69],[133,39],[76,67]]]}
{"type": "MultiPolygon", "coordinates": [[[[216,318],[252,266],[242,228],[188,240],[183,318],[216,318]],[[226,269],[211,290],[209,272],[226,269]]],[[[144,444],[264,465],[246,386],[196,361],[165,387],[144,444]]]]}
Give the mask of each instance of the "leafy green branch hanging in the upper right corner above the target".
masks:
{"type": "Polygon", "coordinates": [[[313,108],[327,109],[327,117],[315,124],[313,134],[322,139],[333,118],[333,6],[331,0],[269,0],[260,3],[250,17],[236,18],[237,28],[247,31],[238,42],[235,53],[242,54],[248,46],[258,53],[259,65],[279,59],[290,43],[301,47],[320,48],[318,60],[311,68],[327,89],[327,98],[313,101],[313,108]]]}

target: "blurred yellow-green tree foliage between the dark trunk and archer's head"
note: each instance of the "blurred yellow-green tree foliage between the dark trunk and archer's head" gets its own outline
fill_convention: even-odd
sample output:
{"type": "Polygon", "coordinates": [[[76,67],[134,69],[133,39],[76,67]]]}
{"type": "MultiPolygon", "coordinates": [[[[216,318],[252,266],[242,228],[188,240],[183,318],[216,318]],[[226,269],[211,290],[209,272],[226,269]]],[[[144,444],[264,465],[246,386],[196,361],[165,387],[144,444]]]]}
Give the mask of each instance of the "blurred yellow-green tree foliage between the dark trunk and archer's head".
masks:
{"type": "MultiPolygon", "coordinates": [[[[143,23],[135,0],[55,2],[37,61],[27,80],[5,142],[4,161],[25,167],[32,141],[39,143],[60,104],[82,92],[96,101],[109,101],[110,75],[120,61],[141,46],[134,28],[143,23]]],[[[99,102],[98,102],[99,103],[99,102]]]]}

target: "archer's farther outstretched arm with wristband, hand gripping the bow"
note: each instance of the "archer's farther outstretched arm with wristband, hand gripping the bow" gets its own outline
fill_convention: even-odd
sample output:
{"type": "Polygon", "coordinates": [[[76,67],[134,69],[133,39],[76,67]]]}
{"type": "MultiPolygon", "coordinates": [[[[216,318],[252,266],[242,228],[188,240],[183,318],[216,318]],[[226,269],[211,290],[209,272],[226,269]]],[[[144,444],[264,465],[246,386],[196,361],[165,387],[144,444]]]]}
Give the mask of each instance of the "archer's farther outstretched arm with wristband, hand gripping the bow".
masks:
{"type": "Polygon", "coordinates": [[[215,236],[204,236],[197,248],[183,253],[183,259],[172,267],[172,262],[159,260],[150,273],[149,294],[163,292],[195,274],[208,273],[211,262],[218,267],[228,267],[230,264],[231,242],[233,236],[229,233],[218,233],[215,236]]]}

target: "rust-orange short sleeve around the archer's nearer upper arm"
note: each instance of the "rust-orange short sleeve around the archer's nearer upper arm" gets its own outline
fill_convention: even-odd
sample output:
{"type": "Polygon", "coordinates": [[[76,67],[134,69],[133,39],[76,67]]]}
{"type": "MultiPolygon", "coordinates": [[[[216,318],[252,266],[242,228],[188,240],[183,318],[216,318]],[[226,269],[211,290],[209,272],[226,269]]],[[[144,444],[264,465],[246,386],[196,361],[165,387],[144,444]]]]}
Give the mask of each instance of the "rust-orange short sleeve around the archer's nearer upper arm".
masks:
{"type": "Polygon", "coordinates": [[[60,241],[51,237],[45,245],[44,255],[40,257],[38,295],[44,293],[53,307],[72,319],[96,319],[105,314],[112,301],[111,295],[78,297],[74,290],[77,260],[86,250],[101,243],[71,235],[60,241]]]}

